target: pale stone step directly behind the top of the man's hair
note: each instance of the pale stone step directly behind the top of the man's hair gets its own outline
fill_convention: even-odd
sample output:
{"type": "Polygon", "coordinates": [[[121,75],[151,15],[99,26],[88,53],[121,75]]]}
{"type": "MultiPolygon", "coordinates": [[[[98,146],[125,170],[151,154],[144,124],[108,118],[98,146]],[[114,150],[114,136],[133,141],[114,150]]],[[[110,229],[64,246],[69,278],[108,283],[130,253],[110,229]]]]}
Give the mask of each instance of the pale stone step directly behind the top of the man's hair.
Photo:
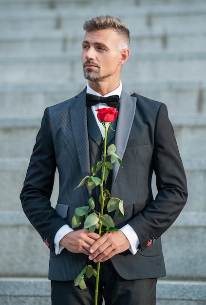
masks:
{"type": "Polygon", "coordinates": [[[91,8],[94,15],[114,15],[118,16],[128,25],[131,32],[139,32],[146,28],[152,30],[170,31],[181,29],[188,31],[188,26],[193,30],[202,31],[206,25],[206,5],[183,5],[183,6],[138,6],[127,5],[124,1],[118,5],[116,1],[110,2],[108,11],[107,3],[99,5],[93,2],[92,7],[87,5],[84,9],[77,10],[75,6],[69,9],[62,7],[58,10],[35,10],[4,12],[0,14],[0,33],[9,34],[17,32],[37,33],[52,29],[82,29],[82,24],[86,19],[91,18],[91,8]]]}

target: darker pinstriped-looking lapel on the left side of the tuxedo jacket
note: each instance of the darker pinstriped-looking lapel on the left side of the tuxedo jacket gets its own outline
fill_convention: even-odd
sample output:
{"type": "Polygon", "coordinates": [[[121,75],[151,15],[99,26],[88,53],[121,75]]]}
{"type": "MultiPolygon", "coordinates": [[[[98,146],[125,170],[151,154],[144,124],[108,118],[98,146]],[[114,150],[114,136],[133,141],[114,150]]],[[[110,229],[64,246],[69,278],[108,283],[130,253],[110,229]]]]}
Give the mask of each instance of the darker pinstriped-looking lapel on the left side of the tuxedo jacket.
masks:
{"type": "MultiPolygon", "coordinates": [[[[87,130],[86,89],[75,96],[71,107],[71,124],[81,171],[83,177],[85,177],[91,175],[87,130]]],[[[91,193],[89,188],[88,191],[91,193]]]]}

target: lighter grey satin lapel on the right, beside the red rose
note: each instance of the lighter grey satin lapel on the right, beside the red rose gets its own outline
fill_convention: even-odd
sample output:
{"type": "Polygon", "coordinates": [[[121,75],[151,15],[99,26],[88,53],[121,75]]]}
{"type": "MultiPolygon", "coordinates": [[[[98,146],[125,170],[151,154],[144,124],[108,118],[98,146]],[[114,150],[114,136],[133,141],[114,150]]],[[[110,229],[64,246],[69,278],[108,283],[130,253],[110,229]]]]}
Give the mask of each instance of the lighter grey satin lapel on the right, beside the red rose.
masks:
{"type": "MultiPolygon", "coordinates": [[[[122,88],[116,134],[114,140],[114,144],[116,146],[116,154],[121,160],[123,158],[127,146],[136,109],[136,97],[131,96],[131,94],[133,94],[133,92],[126,90],[124,87],[122,88]]],[[[119,166],[119,162],[115,161],[113,164],[112,172],[112,187],[116,179],[119,166]]]]}

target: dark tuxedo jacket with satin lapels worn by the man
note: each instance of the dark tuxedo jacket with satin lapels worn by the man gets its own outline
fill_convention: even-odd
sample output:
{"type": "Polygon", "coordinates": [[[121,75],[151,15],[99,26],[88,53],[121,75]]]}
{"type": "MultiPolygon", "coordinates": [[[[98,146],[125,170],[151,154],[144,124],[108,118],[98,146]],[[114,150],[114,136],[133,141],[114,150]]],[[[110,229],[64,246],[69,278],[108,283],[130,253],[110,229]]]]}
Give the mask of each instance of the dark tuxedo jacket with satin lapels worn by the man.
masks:
{"type": "MultiPolygon", "coordinates": [[[[135,255],[128,249],[112,257],[112,264],[127,280],[165,276],[160,236],[187,201],[186,176],[166,105],[123,87],[114,144],[123,167],[118,161],[113,164],[111,196],[123,200],[125,217],[117,219],[116,211],[113,220],[117,228],[130,224],[140,245],[135,255]]],[[[84,89],[45,110],[20,194],[25,214],[50,248],[51,280],[73,280],[88,259],[67,249],[56,255],[54,250],[57,230],[71,227],[75,208],[88,205],[92,191],[87,184],[75,189],[86,175],[91,175],[91,164],[84,89]],[[56,168],[59,196],[54,209],[50,197],[56,168]]]]}

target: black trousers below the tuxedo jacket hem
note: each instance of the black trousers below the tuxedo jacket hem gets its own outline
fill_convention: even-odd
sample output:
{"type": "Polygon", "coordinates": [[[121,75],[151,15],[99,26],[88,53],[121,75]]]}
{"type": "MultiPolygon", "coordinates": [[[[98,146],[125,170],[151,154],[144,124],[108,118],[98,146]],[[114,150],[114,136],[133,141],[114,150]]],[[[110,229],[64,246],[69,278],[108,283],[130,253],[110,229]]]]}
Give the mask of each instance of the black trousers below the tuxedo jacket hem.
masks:
{"type": "MultiPolygon", "coordinates": [[[[94,266],[94,264],[93,264],[94,266]]],[[[157,279],[124,280],[111,261],[101,263],[98,305],[155,305],[157,279]]],[[[52,305],[94,305],[95,277],[86,280],[87,289],[74,281],[51,281],[52,305]]]]}

